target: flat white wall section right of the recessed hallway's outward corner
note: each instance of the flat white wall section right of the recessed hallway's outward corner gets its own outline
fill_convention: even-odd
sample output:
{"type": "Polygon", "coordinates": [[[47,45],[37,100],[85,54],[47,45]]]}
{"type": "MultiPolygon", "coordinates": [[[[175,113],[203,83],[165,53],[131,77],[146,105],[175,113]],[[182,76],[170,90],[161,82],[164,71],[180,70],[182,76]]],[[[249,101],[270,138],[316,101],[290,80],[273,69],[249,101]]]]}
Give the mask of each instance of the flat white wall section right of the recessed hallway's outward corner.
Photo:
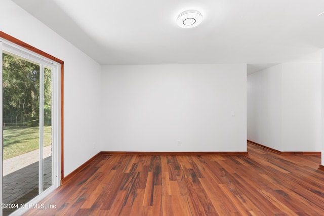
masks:
{"type": "Polygon", "coordinates": [[[282,64],[280,151],[321,151],[321,65],[282,64]]]}

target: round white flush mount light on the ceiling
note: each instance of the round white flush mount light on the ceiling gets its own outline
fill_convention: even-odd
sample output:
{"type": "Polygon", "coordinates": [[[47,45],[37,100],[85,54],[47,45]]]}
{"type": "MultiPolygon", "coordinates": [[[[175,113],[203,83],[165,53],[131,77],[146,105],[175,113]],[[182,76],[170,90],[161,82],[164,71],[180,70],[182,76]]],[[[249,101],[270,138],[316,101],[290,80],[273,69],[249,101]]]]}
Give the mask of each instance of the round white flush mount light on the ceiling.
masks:
{"type": "Polygon", "coordinates": [[[201,15],[199,11],[188,10],[179,15],[177,24],[181,28],[193,28],[199,25],[201,21],[203,21],[203,15],[201,15]]]}

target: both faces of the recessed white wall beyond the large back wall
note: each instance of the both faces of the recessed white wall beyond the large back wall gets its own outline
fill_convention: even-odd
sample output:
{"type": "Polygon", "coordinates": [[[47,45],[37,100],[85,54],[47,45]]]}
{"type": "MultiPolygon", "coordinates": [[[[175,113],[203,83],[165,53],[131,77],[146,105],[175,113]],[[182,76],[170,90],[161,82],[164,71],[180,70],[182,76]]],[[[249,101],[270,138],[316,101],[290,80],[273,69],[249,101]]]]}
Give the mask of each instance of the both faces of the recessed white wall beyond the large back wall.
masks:
{"type": "Polygon", "coordinates": [[[279,151],[321,151],[320,63],[291,62],[248,76],[248,140],[279,151]]]}

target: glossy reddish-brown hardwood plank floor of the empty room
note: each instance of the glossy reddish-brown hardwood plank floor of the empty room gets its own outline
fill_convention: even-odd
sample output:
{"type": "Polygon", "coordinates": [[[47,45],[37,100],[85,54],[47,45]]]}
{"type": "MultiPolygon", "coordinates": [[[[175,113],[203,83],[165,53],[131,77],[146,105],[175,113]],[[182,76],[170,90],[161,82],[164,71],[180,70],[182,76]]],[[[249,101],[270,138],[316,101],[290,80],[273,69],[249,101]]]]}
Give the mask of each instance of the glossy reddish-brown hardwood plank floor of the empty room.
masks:
{"type": "Polygon", "coordinates": [[[320,156],[102,155],[26,215],[323,215],[320,156]]]}

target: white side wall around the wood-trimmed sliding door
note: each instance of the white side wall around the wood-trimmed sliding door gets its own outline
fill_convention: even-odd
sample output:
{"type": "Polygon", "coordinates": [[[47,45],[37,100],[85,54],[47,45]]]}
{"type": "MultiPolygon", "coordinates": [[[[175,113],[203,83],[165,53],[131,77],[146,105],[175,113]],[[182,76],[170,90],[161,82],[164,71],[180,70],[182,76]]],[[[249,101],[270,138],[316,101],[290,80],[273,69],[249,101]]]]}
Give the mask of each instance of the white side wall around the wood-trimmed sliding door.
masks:
{"type": "Polygon", "coordinates": [[[64,61],[66,176],[99,151],[100,65],[10,0],[1,2],[0,30],[64,61]]]}

